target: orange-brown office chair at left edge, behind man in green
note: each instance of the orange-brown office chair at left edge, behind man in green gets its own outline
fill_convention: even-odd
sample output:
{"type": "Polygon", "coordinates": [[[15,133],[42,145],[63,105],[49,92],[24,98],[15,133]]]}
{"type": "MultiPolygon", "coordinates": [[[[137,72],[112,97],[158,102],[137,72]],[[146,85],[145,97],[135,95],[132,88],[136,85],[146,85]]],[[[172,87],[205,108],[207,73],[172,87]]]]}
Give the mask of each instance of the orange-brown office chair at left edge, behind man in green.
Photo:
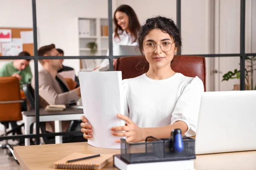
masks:
{"type": "MultiPolygon", "coordinates": [[[[0,122],[4,125],[4,134],[6,136],[11,131],[20,128],[24,124],[15,127],[11,131],[7,132],[10,121],[22,120],[21,114],[21,100],[20,96],[20,82],[16,77],[0,77],[0,122]]],[[[13,154],[11,146],[5,141],[5,144],[1,145],[3,149],[9,149],[13,154]]],[[[10,155],[10,154],[9,154],[10,155]]],[[[15,156],[14,156],[15,157],[15,156]]],[[[17,159],[15,158],[17,161],[17,159]]]]}

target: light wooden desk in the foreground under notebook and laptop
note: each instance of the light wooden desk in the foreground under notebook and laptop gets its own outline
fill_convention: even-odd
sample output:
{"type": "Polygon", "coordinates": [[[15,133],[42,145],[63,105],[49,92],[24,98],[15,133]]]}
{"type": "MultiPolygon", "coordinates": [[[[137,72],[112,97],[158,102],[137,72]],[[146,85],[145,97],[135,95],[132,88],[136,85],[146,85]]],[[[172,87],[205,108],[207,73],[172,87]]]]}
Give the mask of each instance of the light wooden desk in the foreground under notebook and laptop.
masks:
{"type": "MultiPolygon", "coordinates": [[[[93,147],[87,142],[45,144],[14,147],[14,154],[23,170],[54,170],[55,161],[78,153],[120,153],[120,150],[93,147]]],[[[104,170],[117,170],[110,162],[104,170]]],[[[255,170],[256,151],[197,155],[196,170],[255,170]]]]}

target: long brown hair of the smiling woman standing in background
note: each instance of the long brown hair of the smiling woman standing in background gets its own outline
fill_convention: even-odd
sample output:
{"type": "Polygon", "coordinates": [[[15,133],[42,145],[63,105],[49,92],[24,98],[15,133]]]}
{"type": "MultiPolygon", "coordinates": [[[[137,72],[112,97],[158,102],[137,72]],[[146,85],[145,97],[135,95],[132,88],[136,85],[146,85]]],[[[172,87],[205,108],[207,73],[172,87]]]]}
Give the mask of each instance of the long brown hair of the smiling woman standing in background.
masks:
{"type": "Polygon", "coordinates": [[[120,11],[120,12],[124,12],[125,14],[128,15],[129,17],[129,30],[131,31],[131,37],[134,37],[134,41],[133,42],[136,42],[137,41],[137,37],[138,37],[138,32],[140,30],[140,22],[137,18],[137,15],[136,13],[134,12],[134,10],[131,8],[131,6],[128,6],[128,5],[121,5],[119,6],[118,8],[116,8],[116,11],[114,13],[114,18],[113,18],[113,21],[115,23],[115,36],[114,37],[118,37],[119,38],[119,35],[118,35],[118,31],[124,31],[122,30],[122,28],[117,25],[117,20],[116,20],[116,12],[117,11],[120,11]]]}

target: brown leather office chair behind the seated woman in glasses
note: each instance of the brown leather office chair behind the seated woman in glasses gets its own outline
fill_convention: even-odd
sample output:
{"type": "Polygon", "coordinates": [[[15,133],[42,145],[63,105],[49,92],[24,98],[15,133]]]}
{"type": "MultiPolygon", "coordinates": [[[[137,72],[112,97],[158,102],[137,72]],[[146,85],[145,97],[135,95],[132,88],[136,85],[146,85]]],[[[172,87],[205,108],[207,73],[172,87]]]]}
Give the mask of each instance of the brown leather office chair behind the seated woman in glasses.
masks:
{"type": "MultiPolygon", "coordinates": [[[[206,91],[206,64],[201,56],[174,56],[171,63],[175,72],[187,77],[198,76],[206,91]]],[[[120,57],[116,60],[116,71],[122,71],[122,79],[138,77],[148,71],[149,64],[143,56],[120,57]]]]}

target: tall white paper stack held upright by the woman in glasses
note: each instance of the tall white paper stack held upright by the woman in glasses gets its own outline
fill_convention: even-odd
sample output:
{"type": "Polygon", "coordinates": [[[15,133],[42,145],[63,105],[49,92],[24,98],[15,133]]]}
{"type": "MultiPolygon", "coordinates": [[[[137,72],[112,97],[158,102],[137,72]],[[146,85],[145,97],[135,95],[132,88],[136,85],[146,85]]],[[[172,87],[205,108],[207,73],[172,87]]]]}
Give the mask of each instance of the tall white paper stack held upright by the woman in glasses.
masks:
{"type": "Polygon", "coordinates": [[[79,72],[84,116],[92,125],[92,138],[88,144],[95,147],[120,149],[111,127],[124,126],[125,122],[116,114],[124,114],[122,72],[79,72]]]}

